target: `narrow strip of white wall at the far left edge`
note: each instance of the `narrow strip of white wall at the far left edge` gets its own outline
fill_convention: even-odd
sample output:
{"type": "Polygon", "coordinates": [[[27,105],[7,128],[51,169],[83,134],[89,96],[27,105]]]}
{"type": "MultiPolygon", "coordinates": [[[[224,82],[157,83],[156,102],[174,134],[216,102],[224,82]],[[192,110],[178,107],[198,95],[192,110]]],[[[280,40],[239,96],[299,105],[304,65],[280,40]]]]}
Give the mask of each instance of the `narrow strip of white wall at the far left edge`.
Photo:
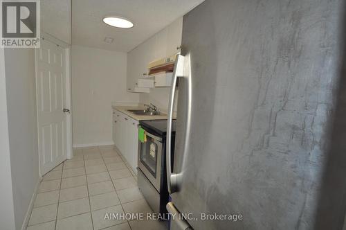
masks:
{"type": "Polygon", "coordinates": [[[0,223],[1,228],[11,230],[15,229],[15,210],[12,193],[4,62],[3,48],[0,48],[0,223]]]}

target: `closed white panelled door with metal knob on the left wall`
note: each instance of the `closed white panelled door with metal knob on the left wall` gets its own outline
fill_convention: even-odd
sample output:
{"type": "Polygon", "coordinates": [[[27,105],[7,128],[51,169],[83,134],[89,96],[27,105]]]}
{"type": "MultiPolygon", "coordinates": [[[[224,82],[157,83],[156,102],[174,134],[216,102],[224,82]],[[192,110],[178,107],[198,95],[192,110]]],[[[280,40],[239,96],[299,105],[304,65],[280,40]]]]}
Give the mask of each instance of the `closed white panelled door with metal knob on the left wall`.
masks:
{"type": "Polygon", "coordinates": [[[40,174],[67,159],[65,48],[42,40],[36,53],[40,174]]]}

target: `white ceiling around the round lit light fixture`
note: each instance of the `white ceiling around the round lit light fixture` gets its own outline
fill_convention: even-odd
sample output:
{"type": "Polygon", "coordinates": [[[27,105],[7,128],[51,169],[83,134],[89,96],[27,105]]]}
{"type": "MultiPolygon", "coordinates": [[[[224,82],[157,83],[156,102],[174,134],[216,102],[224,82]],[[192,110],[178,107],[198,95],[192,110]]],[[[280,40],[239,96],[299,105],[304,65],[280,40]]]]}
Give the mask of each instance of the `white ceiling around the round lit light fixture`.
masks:
{"type": "Polygon", "coordinates": [[[72,44],[128,52],[203,1],[72,0],[72,44]],[[130,19],[134,27],[108,26],[102,22],[105,15],[130,19]],[[105,37],[113,37],[113,43],[105,37]]]}

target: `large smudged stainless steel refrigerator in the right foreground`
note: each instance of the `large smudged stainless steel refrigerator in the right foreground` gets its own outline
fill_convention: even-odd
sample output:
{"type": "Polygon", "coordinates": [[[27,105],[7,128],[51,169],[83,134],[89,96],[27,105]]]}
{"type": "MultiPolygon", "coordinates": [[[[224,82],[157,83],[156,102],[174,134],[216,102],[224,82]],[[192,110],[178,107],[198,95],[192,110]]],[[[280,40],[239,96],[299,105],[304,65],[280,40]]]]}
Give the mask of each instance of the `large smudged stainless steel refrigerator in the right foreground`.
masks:
{"type": "Polygon", "coordinates": [[[167,209],[185,218],[171,229],[343,226],[344,11],[338,0],[206,0],[183,17],[166,166],[167,209]]]}

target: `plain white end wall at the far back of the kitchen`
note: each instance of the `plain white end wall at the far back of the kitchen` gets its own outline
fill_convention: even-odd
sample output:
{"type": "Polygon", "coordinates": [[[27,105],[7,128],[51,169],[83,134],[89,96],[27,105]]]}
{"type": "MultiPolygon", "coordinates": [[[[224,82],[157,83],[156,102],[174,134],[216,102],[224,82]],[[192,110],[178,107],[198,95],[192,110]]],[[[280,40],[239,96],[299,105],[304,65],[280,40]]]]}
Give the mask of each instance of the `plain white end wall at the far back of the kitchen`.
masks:
{"type": "Polygon", "coordinates": [[[73,145],[112,141],[112,102],[138,103],[126,91],[127,53],[72,46],[73,145]]]}

